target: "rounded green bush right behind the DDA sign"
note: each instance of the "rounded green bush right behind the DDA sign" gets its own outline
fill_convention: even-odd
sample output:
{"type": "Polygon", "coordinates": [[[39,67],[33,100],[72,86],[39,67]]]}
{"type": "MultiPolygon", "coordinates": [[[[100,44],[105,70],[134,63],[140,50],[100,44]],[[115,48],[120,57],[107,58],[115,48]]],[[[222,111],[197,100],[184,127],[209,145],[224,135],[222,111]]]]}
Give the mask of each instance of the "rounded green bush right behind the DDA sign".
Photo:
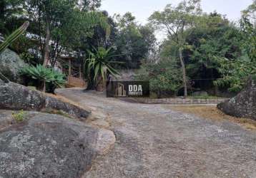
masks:
{"type": "Polygon", "coordinates": [[[178,90],[182,88],[181,70],[171,61],[143,64],[136,79],[149,81],[151,93],[157,93],[158,98],[163,93],[177,95],[178,90]]]}

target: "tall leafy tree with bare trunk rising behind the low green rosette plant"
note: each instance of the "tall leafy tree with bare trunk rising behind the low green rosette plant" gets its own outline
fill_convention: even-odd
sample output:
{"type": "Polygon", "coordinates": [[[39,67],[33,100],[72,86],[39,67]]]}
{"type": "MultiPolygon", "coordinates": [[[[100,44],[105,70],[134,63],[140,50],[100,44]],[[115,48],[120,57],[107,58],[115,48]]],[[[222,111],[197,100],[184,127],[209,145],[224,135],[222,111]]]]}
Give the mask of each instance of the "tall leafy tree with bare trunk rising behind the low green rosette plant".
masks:
{"type": "Polygon", "coordinates": [[[36,34],[39,35],[40,48],[42,49],[41,56],[44,58],[43,66],[46,66],[49,62],[49,44],[52,32],[65,24],[75,5],[75,0],[26,1],[26,11],[29,13],[29,19],[36,24],[36,34]]]}

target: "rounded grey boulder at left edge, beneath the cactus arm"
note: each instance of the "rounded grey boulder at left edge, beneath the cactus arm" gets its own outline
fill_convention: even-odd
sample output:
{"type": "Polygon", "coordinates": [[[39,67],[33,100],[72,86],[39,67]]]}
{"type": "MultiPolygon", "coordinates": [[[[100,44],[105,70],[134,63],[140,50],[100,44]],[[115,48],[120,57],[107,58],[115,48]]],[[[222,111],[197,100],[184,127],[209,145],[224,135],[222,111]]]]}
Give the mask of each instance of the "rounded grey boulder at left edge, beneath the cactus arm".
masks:
{"type": "Polygon", "coordinates": [[[0,72],[13,82],[19,81],[19,70],[25,66],[18,54],[8,48],[0,55],[0,72]]]}

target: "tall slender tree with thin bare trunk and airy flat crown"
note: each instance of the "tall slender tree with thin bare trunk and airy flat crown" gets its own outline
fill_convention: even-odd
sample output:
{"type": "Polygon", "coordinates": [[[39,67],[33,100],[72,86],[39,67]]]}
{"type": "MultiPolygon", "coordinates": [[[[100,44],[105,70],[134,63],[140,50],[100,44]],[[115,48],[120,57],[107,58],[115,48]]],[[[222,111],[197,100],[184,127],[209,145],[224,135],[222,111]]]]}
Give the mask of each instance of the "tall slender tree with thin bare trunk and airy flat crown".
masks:
{"type": "Polygon", "coordinates": [[[149,17],[149,21],[158,28],[165,28],[169,38],[178,46],[179,61],[182,66],[184,97],[187,97],[187,74],[183,58],[185,46],[185,30],[193,28],[197,16],[201,14],[200,0],[182,1],[176,7],[169,4],[164,11],[156,11],[149,17]]]}

